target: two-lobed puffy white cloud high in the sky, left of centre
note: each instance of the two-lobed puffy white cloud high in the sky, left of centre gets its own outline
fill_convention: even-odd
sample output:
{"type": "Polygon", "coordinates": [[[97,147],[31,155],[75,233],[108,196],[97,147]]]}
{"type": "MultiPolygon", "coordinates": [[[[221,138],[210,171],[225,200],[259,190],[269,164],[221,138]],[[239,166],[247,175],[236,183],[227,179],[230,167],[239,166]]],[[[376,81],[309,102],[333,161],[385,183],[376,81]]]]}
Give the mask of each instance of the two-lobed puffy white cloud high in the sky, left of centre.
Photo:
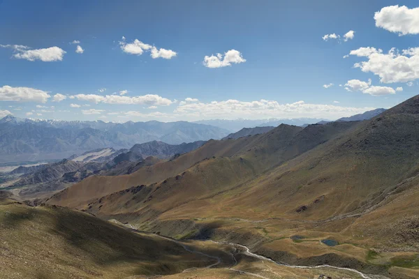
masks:
{"type": "Polygon", "coordinates": [[[177,53],[173,50],[166,50],[164,48],[158,49],[153,45],[142,43],[142,41],[138,39],[133,40],[132,43],[126,43],[126,39],[124,36],[122,37],[122,40],[119,42],[119,46],[121,47],[121,50],[123,52],[128,54],[141,55],[144,52],[150,52],[150,56],[152,56],[153,59],[172,59],[177,55],[177,53]]]}

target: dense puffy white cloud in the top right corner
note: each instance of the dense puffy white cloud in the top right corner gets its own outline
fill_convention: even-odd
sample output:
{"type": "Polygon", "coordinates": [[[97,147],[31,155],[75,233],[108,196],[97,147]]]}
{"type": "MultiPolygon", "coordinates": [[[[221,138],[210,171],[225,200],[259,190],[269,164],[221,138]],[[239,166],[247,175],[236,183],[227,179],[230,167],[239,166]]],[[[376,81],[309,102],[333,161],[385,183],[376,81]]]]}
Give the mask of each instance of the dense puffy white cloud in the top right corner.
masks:
{"type": "Polygon", "coordinates": [[[398,33],[399,36],[419,34],[419,8],[388,6],[374,14],[376,27],[398,33]]]}

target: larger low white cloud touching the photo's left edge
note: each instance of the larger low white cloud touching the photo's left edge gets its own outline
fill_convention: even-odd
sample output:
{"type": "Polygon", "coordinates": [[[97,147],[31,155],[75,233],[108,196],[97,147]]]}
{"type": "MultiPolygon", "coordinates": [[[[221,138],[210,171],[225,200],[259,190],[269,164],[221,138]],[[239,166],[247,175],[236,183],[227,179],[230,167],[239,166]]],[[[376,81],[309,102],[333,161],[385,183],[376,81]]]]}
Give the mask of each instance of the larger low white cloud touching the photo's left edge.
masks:
{"type": "Polygon", "coordinates": [[[50,98],[50,95],[39,89],[8,85],[0,87],[0,100],[46,103],[48,98],[50,98]]]}

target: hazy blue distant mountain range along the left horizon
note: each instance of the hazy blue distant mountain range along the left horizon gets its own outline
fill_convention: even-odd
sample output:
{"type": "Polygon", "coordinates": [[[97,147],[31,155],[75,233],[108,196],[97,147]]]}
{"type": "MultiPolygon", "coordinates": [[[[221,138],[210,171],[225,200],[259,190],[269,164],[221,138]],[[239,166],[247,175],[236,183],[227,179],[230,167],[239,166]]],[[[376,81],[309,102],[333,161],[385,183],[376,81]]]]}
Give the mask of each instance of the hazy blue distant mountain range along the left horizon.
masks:
{"type": "Polygon", "coordinates": [[[0,119],[0,161],[61,159],[98,148],[124,149],[153,140],[181,144],[226,135],[228,131],[222,128],[186,121],[105,123],[19,119],[9,115],[0,119]]]}

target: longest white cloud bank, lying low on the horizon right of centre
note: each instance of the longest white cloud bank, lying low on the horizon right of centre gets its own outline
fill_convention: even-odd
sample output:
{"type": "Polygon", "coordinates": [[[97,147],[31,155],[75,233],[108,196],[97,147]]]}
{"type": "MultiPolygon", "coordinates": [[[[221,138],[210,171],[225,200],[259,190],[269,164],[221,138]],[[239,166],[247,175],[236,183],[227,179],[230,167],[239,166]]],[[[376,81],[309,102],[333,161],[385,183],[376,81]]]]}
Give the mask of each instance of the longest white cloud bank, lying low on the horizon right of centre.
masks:
{"type": "Polygon", "coordinates": [[[243,102],[240,100],[212,101],[210,103],[179,103],[175,116],[187,119],[264,119],[318,117],[337,119],[372,110],[371,107],[341,107],[337,105],[318,105],[298,101],[280,104],[274,100],[256,100],[243,102]]]}

